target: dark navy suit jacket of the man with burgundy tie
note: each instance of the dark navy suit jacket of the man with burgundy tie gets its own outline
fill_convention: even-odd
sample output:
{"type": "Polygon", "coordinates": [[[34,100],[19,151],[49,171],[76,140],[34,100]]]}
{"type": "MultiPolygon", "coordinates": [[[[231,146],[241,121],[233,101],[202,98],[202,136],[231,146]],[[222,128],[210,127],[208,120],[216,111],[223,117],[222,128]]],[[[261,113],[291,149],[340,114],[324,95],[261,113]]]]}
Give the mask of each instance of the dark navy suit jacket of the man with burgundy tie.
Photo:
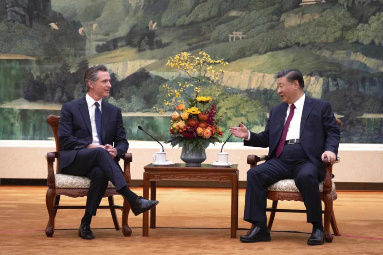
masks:
{"type": "MultiPolygon", "coordinates": [[[[250,132],[246,146],[268,147],[268,159],[275,157],[275,151],[285,125],[288,104],[281,103],[271,109],[265,130],[259,134],[250,132]]],[[[330,103],[306,96],[303,104],[300,141],[304,152],[318,167],[320,180],[324,179],[325,167],[321,155],[329,150],[338,154],[340,141],[339,127],[330,103]]]]}

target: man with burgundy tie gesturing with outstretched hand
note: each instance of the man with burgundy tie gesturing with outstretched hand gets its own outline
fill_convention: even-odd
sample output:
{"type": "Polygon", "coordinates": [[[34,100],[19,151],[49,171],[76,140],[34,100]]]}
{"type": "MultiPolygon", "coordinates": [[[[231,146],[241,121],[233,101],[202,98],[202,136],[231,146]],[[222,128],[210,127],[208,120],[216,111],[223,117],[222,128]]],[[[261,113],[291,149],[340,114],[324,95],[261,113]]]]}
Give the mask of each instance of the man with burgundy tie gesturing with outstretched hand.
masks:
{"type": "Polygon", "coordinates": [[[336,160],[340,133],[328,102],[303,93],[303,75],[297,69],[277,74],[277,93],[282,102],[272,108],[265,130],[255,134],[239,123],[230,127],[244,145],[268,147],[268,159],[247,172],[244,220],[255,224],[242,242],[270,241],[266,225],[267,187],[283,179],[294,179],[313,224],[309,245],[324,243],[322,204],[318,184],[324,179],[322,160],[336,160]]]}

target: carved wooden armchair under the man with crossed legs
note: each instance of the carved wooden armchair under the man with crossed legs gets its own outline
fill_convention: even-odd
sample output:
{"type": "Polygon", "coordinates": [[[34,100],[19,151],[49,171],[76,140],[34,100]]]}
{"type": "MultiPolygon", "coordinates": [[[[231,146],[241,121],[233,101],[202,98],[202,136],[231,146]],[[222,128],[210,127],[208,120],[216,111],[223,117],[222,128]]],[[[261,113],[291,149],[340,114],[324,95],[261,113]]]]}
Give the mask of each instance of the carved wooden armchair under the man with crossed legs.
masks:
{"type": "MultiPolygon", "coordinates": [[[[47,237],[52,237],[54,233],[54,218],[56,217],[57,209],[85,209],[85,206],[59,206],[60,195],[70,196],[72,198],[83,197],[88,193],[90,180],[87,177],[79,177],[74,175],[65,175],[58,173],[59,169],[59,153],[61,146],[57,136],[59,128],[60,116],[49,115],[46,118],[47,123],[52,127],[54,139],[56,141],[56,151],[48,152],[46,159],[48,163],[48,190],[46,193],[46,206],[49,214],[49,221],[45,229],[47,237]],[[56,173],[53,170],[53,162],[57,159],[56,173]]],[[[132,162],[132,154],[125,153],[124,156],[124,178],[128,186],[130,185],[130,162],[132,162]]],[[[122,232],[125,236],[130,236],[132,230],[128,226],[128,214],[130,206],[124,198],[123,206],[115,205],[113,195],[121,195],[116,192],[115,186],[109,181],[104,197],[108,197],[108,206],[99,206],[99,209],[110,209],[115,229],[119,230],[119,224],[116,215],[116,209],[122,210],[122,232]]]]}

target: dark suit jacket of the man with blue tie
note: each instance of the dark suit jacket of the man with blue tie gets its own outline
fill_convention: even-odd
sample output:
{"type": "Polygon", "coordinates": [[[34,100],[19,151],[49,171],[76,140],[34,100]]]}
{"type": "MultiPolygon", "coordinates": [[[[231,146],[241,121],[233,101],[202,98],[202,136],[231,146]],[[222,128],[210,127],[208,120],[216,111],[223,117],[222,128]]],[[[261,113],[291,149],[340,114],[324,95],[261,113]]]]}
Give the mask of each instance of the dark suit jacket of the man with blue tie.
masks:
{"type": "MultiPolygon", "coordinates": [[[[69,166],[78,150],[84,149],[93,141],[92,125],[85,96],[65,103],[61,108],[58,130],[61,145],[59,170],[69,166]]],[[[104,144],[111,144],[117,150],[116,163],[128,150],[121,109],[102,100],[101,136],[104,144]]]]}

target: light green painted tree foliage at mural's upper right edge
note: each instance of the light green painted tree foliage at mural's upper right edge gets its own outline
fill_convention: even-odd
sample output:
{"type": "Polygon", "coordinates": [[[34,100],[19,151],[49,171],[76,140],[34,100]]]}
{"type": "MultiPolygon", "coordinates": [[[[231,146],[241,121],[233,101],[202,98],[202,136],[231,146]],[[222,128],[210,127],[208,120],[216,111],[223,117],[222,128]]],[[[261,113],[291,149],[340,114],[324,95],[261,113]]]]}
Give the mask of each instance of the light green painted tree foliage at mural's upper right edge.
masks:
{"type": "Polygon", "coordinates": [[[383,45],[383,12],[378,12],[371,16],[368,24],[359,24],[356,28],[347,31],[345,38],[350,43],[359,42],[364,45],[375,43],[383,45]]]}

